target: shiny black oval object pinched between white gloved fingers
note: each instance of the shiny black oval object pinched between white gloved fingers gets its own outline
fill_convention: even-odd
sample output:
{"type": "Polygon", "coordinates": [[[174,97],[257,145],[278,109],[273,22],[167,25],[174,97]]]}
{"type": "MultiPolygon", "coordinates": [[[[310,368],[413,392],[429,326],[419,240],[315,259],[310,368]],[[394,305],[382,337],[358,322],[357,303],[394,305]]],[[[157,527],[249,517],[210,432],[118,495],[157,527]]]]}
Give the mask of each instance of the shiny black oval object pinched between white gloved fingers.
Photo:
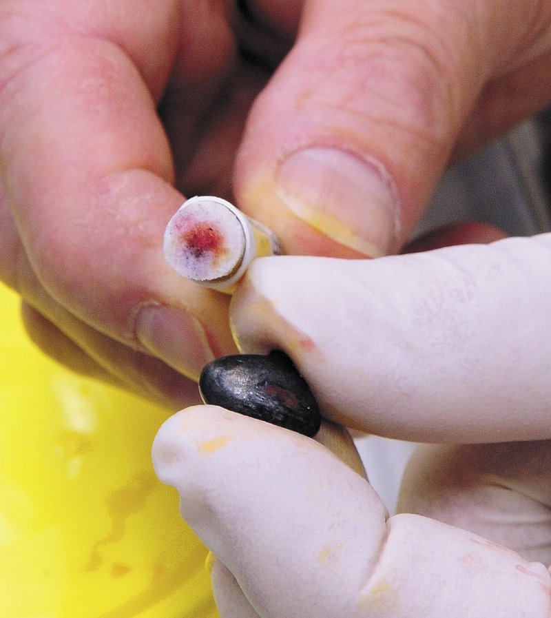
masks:
{"type": "Polygon", "coordinates": [[[313,436],[321,415],[308,384],[282,351],[267,356],[238,354],[207,364],[199,378],[206,404],[222,406],[313,436]]]}

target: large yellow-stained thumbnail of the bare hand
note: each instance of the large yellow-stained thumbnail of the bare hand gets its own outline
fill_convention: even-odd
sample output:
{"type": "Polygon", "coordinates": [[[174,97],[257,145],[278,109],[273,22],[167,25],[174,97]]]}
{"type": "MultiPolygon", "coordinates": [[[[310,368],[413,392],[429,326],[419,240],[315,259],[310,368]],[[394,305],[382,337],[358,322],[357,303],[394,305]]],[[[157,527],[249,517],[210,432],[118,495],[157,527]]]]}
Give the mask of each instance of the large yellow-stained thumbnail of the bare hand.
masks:
{"type": "Polygon", "coordinates": [[[313,147],[282,163],[277,185],[293,214],[335,242],[369,257],[395,249],[397,192],[380,165],[343,150],[313,147]]]}

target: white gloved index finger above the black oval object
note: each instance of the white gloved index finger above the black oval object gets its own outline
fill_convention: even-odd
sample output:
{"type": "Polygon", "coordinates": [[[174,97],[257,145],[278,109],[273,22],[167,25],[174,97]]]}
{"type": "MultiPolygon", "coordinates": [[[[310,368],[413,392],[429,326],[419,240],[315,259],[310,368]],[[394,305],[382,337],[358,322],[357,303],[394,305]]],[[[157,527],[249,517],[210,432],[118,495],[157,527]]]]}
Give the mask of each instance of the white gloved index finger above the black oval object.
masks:
{"type": "Polygon", "coordinates": [[[322,415],[416,442],[551,437],[551,235],[377,260],[259,258],[231,318],[322,415]]]}

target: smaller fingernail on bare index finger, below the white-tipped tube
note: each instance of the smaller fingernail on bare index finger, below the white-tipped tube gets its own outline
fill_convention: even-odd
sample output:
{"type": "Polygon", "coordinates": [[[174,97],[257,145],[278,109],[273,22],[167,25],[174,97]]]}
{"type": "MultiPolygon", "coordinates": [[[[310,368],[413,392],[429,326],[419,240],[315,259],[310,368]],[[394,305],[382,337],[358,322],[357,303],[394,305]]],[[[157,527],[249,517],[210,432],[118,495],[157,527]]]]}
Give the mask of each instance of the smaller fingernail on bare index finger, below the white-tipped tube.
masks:
{"type": "Polygon", "coordinates": [[[198,380],[202,368],[215,356],[205,329],[185,309],[145,305],[136,318],[136,338],[170,367],[198,380]]]}

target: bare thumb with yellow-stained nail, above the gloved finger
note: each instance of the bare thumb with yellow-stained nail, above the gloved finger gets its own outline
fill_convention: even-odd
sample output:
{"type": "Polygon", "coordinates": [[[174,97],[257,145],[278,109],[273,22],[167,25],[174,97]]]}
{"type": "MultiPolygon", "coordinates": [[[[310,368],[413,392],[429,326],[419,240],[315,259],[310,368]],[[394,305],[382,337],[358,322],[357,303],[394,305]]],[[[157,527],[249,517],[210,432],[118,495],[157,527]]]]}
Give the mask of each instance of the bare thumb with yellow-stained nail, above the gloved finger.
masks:
{"type": "MultiPolygon", "coordinates": [[[[295,45],[249,116],[238,205],[289,254],[395,251],[486,101],[484,87],[529,63],[545,39],[543,3],[515,9],[501,0],[306,0],[295,45]]],[[[497,98],[485,109],[503,116],[497,98]]]]}

